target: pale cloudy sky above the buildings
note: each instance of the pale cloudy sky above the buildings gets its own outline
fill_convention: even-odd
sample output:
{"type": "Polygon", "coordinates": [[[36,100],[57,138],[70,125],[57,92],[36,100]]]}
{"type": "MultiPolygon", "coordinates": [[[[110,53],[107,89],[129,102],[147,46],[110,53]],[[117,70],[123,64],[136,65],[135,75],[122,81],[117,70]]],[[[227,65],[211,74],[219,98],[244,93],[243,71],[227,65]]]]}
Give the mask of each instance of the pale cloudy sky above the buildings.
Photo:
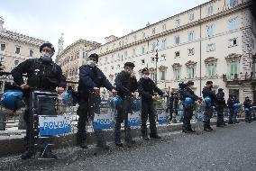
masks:
{"type": "Polygon", "coordinates": [[[4,27],[64,49],[78,39],[105,43],[209,0],[0,0],[4,27]]]}

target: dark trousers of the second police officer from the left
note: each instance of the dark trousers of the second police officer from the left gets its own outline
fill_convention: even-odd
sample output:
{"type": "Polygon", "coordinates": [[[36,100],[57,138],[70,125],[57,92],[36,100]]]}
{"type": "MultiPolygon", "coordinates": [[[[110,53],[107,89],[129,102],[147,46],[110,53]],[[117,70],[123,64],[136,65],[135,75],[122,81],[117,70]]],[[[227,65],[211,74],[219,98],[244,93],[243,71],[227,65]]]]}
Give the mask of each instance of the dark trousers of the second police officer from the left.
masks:
{"type": "MultiPolygon", "coordinates": [[[[94,120],[94,113],[100,113],[98,98],[91,98],[91,101],[81,100],[78,106],[78,132],[77,132],[77,143],[84,143],[87,139],[87,121],[89,119],[94,120]]],[[[96,143],[98,147],[106,145],[105,135],[103,130],[94,130],[96,135],[96,143]]]]}

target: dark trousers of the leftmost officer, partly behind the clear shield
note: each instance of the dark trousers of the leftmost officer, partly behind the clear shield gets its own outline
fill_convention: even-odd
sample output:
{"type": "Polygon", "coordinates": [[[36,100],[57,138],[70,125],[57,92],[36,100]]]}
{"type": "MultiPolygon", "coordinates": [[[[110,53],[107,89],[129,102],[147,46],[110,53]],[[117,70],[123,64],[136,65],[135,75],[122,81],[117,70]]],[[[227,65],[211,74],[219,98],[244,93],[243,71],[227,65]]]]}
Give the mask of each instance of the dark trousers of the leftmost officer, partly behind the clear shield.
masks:
{"type": "MultiPolygon", "coordinates": [[[[38,117],[33,116],[33,114],[38,115],[57,115],[57,112],[55,110],[55,100],[50,97],[41,97],[38,99],[36,97],[35,99],[32,99],[32,96],[30,98],[25,98],[25,103],[27,105],[27,108],[24,111],[24,121],[26,123],[26,136],[24,138],[25,140],[25,146],[27,150],[34,150],[34,144],[36,143],[36,136],[38,136],[38,117]],[[33,102],[32,102],[33,100],[33,102]],[[33,103],[33,109],[32,109],[32,103],[33,103]]],[[[52,140],[50,139],[50,136],[48,139],[44,138],[41,139],[42,147],[46,148],[48,144],[51,144],[52,140]]]]}

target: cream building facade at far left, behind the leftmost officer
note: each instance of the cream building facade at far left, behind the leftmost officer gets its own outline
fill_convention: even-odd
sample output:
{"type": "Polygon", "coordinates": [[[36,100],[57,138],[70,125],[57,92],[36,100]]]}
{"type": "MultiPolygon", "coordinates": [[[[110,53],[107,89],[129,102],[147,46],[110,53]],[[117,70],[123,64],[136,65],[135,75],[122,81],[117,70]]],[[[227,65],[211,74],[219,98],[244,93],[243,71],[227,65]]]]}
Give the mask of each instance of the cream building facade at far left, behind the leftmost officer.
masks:
{"type": "MultiPolygon", "coordinates": [[[[29,37],[4,28],[4,18],[0,17],[0,61],[5,72],[11,72],[19,63],[28,58],[39,58],[40,46],[44,40],[29,37]]],[[[0,76],[0,92],[12,76],[0,76]]]]}

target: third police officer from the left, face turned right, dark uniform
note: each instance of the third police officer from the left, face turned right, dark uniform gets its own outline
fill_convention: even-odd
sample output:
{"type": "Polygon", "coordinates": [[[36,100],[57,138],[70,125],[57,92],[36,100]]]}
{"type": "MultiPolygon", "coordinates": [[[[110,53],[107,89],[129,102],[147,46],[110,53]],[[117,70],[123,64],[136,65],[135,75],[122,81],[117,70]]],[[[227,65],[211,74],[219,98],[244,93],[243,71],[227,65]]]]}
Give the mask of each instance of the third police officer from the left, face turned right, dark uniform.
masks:
{"type": "Polygon", "coordinates": [[[134,92],[137,89],[137,80],[135,73],[133,72],[134,64],[132,62],[126,62],[124,64],[124,70],[121,71],[114,80],[117,94],[122,98],[123,105],[117,109],[117,115],[115,118],[114,126],[114,144],[118,147],[123,147],[121,143],[121,123],[124,121],[125,141],[130,147],[135,143],[131,135],[131,128],[128,125],[128,113],[133,113],[133,97],[134,92]]]}

